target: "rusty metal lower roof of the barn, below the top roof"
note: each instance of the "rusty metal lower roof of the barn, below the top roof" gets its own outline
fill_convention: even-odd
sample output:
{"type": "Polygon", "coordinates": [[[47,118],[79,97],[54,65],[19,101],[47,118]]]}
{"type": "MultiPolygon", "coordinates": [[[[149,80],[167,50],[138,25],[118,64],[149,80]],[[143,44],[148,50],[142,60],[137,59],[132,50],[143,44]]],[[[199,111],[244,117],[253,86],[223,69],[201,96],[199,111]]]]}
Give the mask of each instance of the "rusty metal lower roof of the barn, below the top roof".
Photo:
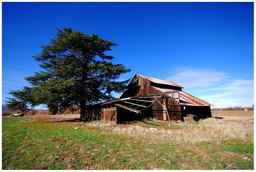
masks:
{"type": "MultiPolygon", "coordinates": [[[[174,91],[173,89],[160,88],[160,87],[156,87],[156,86],[152,86],[152,87],[161,92],[174,91]]],[[[180,95],[180,104],[182,104],[182,105],[195,105],[195,106],[212,105],[212,104],[210,104],[194,95],[184,92],[184,91],[179,91],[179,95],[180,95]]]]}

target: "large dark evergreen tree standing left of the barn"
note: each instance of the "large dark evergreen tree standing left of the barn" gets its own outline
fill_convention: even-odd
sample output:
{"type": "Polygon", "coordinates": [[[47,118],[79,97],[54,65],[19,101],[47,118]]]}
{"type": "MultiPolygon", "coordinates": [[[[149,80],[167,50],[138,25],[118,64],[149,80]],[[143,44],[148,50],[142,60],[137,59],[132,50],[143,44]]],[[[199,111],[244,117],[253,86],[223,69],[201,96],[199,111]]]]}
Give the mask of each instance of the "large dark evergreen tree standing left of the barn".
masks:
{"type": "Polygon", "coordinates": [[[26,77],[34,89],[33,100],[46,104],[52,113],[77,105],[81,119],[87,120],[88,105],[112,99],[112,93],[122,92],[129,81],[116,81],[131,69],[113,64],[113,56],[106,54],[116,45],[96,34],[58,29],[56,37],[34,56],[43,71],[26,77]]]}

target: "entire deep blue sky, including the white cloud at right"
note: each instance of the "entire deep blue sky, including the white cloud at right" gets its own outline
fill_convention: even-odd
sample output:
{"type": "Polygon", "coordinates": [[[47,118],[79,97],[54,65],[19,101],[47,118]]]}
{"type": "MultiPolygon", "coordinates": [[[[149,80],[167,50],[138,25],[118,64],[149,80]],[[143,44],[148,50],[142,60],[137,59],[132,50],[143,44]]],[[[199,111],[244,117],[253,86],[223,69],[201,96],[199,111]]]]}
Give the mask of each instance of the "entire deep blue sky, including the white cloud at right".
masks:
{"type": "Polygon", "coordinates": [[[68,26],[118,43],[109,53],[132,69],[121,79],[170,79],[216,107],[253,104],[252,2],[3,2],[3,101],[68,26]]]}

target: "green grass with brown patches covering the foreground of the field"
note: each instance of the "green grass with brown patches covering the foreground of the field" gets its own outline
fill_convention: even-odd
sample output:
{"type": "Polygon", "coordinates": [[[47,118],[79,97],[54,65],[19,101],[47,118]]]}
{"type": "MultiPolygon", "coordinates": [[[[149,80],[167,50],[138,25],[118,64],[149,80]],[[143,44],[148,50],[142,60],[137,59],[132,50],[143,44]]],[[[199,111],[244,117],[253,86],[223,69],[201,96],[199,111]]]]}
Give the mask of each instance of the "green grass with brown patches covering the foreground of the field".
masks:
{"type": "Polygon", "coordinates": [[[253,169],[253,161],[242,159],[253,159],[253,143],[243,140],[174,145],[36,120],[3,118],[3,169],[253,169]]]}

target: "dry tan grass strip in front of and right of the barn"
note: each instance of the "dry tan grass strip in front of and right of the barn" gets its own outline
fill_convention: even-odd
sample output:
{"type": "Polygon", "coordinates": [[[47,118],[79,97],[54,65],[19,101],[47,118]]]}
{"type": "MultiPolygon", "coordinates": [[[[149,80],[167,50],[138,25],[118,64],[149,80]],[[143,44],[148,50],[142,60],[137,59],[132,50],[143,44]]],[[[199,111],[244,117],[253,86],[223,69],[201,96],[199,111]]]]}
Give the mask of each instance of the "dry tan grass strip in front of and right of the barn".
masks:
{"type": "MultiPolygon", "coordinates": [[[[153,122],[151,122],[153,123],[153,122]]],[[[227,139],[243,139],[253,141],[253,111],[213,111],[213,117],[199,122],[157,121],[160,126],[153,126],[143,122],[117,125],[114,122],[88,122],[85,125],[98,127],[107,132],[124,134],[132,137],[144,137],[150,140],[164,140],[171,143],[196,143],[201,141],[215,141],[219,143],[227,139]],[[215,118],[223,117],[223,118],[215,118]],[[150,127],[157,128],[151,130],[150,127]]]]}

